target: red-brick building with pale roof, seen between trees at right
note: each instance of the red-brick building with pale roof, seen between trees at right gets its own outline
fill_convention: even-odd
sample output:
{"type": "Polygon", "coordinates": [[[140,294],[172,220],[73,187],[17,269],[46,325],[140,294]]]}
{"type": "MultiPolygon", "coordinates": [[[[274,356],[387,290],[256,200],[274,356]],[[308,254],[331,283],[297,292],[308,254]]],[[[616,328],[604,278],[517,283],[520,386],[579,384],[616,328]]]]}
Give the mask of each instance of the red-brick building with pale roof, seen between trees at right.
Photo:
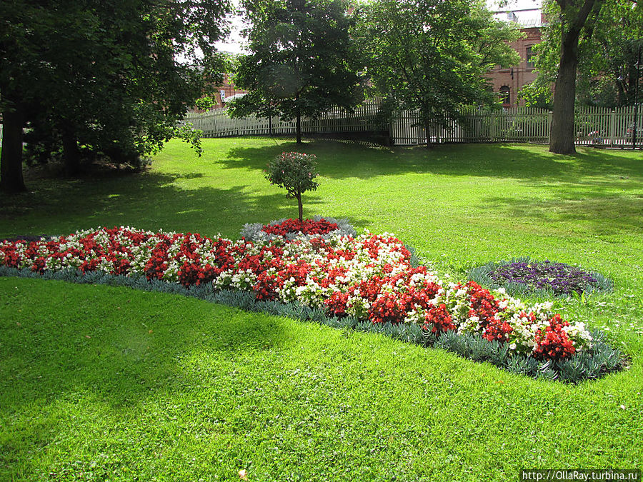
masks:
{"type": "Polygon", "coordinates": [[[517,22],[523,38],[511,42],[509,45],[520,55],[520,63],[509,69],[500,69],[496,66],[487,74],[489,83],[492,84],[494,92],[502,100],[502,106],[514,107],[524,105],[519,101],[518,93],[522,86],[531,83],[536,79],[532,49],[541,41],[542,16],[539,9],[526,9],[524,11],[509,11],[497,14],[497,18],[517,22]],[[537,18],[534,18],[537,16],[537,18]]]}

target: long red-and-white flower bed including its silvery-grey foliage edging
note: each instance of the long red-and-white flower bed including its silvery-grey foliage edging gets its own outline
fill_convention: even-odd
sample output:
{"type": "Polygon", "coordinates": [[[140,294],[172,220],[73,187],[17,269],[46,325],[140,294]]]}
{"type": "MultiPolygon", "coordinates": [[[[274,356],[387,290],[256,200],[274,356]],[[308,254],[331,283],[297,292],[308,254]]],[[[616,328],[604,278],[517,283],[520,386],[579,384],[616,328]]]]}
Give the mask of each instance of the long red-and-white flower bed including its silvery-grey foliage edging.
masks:
{"type": "Polygon", "coordinates": [[[622,358],[599,332],[554,313],[552,303],[527,306],[503,290],[412,266],[390,234],[252,242],[101,228],[4,241],[0,265],[0,274],[172,286],[161,291],[379,331],[537,378],[596,378],[622,358]]]}

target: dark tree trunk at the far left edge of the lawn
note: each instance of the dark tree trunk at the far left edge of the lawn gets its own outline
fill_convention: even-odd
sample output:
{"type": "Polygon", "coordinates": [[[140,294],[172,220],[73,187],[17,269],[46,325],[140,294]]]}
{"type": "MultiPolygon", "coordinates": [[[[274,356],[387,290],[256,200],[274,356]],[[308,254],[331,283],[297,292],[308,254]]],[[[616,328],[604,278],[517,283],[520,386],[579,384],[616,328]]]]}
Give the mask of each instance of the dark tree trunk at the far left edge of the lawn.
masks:
{"type": "Polygon", "coordinates": [[[2,113],[2,154],[0,156],[0,191],[19,193],[26,191],[22,176],[22,112],[2,113]]]}

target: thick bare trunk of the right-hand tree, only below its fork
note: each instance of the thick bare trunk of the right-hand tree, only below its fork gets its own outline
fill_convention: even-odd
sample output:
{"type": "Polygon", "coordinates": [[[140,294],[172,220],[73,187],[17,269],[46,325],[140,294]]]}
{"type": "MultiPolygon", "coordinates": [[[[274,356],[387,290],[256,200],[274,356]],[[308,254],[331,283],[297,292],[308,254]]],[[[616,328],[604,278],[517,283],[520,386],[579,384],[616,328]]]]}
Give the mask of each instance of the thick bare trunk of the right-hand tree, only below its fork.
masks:
{"type": "Polygon", "coordinates": [[[554,86],[554,112],[549,134],[549,152],[576,154],[574,101],[578,67],[578,35],[563,34],[558,77],[554,86]]]}

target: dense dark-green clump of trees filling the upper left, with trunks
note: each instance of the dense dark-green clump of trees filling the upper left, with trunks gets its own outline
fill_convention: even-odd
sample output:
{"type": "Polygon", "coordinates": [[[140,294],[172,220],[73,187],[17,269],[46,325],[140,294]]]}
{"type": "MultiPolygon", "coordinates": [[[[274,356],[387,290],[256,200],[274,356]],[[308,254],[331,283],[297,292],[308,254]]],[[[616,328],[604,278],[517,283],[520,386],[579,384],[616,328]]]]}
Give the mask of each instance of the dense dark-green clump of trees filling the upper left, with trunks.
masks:
{"type": "Polygon", "coordinates": [[[4,1],[0,190],[25,189],[26,123],[56,138],[69,174],[81,149],[119,162],[159,149],[221,71],[214,43],[227,9],[226,0],[4,1]]]}

